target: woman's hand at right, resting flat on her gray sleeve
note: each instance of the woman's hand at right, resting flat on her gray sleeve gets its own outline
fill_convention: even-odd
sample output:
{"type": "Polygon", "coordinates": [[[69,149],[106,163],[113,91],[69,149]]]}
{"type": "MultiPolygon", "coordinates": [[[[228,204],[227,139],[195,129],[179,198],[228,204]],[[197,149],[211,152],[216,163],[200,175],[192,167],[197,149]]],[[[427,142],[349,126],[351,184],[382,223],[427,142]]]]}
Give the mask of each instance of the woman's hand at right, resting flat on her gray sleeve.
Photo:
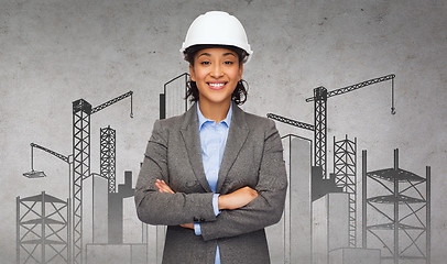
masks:
{"type": "Polygon", "coordinates": [[[248,186],[235,190],[233,193],[228,195],[220,195],[218,199],[219,210],[233,210],[244,207],[257,197],[258,191],[248,186]]]}

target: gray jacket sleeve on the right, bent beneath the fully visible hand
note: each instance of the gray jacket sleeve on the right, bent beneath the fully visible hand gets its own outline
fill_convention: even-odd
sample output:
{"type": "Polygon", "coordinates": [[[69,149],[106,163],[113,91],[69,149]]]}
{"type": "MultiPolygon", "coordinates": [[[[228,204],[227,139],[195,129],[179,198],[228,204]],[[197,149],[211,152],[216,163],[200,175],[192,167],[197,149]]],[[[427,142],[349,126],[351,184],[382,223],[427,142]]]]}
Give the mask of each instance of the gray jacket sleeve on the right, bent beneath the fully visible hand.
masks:
{"type": "Polygon", "coordinates": [[[280,221],[287,189],[287,176],[280,134],[270,122],[255,186],[258,197],[236,210],[222,210],[216,221],[200,222],[205,241],[253,232],[280,221]]]}

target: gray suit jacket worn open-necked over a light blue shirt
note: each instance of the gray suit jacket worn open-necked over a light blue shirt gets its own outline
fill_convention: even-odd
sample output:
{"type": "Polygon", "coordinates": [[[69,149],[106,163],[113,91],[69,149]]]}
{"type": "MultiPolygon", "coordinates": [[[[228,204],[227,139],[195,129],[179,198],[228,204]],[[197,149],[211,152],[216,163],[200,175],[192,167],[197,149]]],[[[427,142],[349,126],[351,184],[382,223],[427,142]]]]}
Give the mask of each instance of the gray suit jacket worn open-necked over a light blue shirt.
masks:
{"type": "Polygon", "coordinates": [[[250,186],[259,197],[216,217],[205,176],[196,105],[186,113],[157,120],[137,182],[135,205],[141,221],[166,224],[165,264],[214,263],[219,244],[222,264],[270,263],[264,228],[282,216],[287,187],[283,147],[274,122],[233,106],[216,193],[250,186]],[[155,179],[176,194],[161,194],[155,179]],[[200,222],[201,235],[181,223],[200,222]]]}

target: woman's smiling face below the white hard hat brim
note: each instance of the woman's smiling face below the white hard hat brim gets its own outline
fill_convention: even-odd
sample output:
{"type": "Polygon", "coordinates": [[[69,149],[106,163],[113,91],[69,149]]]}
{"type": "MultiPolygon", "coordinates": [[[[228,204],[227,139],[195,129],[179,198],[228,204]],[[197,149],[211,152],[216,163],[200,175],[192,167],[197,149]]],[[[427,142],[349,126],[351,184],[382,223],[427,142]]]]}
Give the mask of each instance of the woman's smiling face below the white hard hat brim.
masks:
{"type": "Polygon", "coordinates": [[[221,47],[197,52],[194,65],[189,65],[189,74],[190,80],[197,85],[200,105],[229,106],[242,72],[243,66],[236,52],[221,47]]]}

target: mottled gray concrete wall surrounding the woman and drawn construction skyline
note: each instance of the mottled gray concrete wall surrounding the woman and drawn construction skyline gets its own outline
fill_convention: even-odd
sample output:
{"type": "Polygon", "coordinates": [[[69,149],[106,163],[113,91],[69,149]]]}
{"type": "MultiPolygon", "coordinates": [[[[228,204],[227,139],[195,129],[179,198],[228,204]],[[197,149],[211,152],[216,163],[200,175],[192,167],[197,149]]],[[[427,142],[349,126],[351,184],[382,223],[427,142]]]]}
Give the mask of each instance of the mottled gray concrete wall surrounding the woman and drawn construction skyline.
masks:
{"type": "MultiPolygon", "coordinates": [[[[0,7],[2,263],[15,262],[15,197],[41,190],[68,196],[66,164],[46,153],[35,152],[34,167],[48,177],[21,176],[30,170],[29,144],[68,155],[72,101],[84,98],[95,107],[133,90],[133,119],[127,100],[92,116],[91,170],[99,170],[99,128],[110,124],[117,177],[123,180],[124,169],[137,177],[159,94],[187,69],[178,50],[193,19],[208,10],[235,14],[248,32],[254,55],[243,75],[247,111],[312,123],[313,105],[304,100],[314,87],[396,75],[395,116],[389,82],[331,98],[329,139],[357,136],[371,169],[392,167],[395,147],[402,168],[424,176],[432,166],[433,263],[447,257],[446,1],[0,0],[0,7]]],[[[277,127],[284,135],[312,136],[277,127]]]]}

